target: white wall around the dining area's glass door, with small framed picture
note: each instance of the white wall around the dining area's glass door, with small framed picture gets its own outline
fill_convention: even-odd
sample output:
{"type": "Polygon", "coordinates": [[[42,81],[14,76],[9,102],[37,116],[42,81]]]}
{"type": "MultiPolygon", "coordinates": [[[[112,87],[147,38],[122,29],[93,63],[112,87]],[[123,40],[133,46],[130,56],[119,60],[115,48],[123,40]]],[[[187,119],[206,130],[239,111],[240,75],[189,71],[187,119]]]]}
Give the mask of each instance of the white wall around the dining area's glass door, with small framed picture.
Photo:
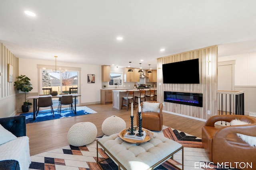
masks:
{"type": "MultiPolygon", "coordinates": [[[[19,75],[26,75],[31,79],[33,90],[31,93],[38,93],[38,68],[37,64],[54,65],[55,60],[44,61],[34,59],[19,59],[19,75]]],[[[57,66],[69,66],[81,68],[80,74],[80,103],[93,104],[100,103],[100,88],[101,88],[101,66],[90,64],[76,64],[58,62],[57,66]],[[87,74],[95,74],[95,83],[87,83],[87,74]]]]}

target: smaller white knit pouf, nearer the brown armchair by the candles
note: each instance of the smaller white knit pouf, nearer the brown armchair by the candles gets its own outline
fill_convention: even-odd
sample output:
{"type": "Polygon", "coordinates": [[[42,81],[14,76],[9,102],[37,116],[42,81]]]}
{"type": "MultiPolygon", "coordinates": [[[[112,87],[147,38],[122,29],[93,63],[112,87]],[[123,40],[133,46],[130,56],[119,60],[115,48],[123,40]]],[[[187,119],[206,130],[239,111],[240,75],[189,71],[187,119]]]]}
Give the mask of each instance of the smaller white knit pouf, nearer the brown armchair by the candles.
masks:
{"type": "Polygon", "coordinates": [[[118,116],[110,116],[103,121],[101,128],[105,135],[110,136],[124,130],[126,128],[126,123],[118,116]]]}

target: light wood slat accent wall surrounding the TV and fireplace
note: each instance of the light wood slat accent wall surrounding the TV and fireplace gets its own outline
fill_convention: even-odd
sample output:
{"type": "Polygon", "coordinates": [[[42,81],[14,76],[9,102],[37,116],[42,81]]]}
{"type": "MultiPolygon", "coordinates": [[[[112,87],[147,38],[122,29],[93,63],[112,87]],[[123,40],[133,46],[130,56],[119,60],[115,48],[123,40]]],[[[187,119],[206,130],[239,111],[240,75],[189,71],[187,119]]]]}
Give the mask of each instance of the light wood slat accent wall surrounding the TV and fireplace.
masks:
{"type": "Polygon", "coordinates": [[[164,102],[165,106],[163,110],[200,119],[208,119],[212,115],[217,115],[217,45],[158,58],[157,66],[158,102],[164,102],[164,91],[196,92],[203,94],[203,107],[164,102]],[[163,84],[162,64],[191,59],[199,59],[200,84],[163,84]],[[210,110],[210,115],[208,115],[208,110],[210,110]]]}

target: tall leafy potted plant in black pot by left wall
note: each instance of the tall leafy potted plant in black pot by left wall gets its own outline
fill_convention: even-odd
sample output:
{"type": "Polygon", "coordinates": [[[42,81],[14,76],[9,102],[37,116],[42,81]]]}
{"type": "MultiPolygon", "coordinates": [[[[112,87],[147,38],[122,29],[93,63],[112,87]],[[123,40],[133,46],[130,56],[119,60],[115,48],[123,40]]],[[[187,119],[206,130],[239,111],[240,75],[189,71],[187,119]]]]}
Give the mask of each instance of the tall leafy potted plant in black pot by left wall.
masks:
{"type": "Polygon", "coordinates": [[[30,105],[32,105],[32,103],[26,101],[26,92],[29,92],[33,89],[32,84],[29,82],[30,78],[28,78],[25,75],[20,75],[17,77],[17,79],[18,80],[14,82],[14,86],[16,86],[17,90],[25,92],[25,102],[23,102],[23,105],[21,108],[22,108],[22,112],[26,113],[29,111],[30,105]]]}

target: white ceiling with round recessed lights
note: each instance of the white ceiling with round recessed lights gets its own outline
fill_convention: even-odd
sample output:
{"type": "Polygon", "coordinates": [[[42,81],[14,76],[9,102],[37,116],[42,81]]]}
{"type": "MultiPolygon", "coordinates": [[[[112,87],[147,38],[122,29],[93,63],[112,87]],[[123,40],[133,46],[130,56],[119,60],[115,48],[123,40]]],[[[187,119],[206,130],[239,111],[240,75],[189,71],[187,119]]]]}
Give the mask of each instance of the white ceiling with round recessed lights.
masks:
{"type": "Polygon", "coordinates": [[[0,1],[0,41],[18,58],[156,69],[210,45],[220,57],[256,51],[256,0],[0,1]]]}

